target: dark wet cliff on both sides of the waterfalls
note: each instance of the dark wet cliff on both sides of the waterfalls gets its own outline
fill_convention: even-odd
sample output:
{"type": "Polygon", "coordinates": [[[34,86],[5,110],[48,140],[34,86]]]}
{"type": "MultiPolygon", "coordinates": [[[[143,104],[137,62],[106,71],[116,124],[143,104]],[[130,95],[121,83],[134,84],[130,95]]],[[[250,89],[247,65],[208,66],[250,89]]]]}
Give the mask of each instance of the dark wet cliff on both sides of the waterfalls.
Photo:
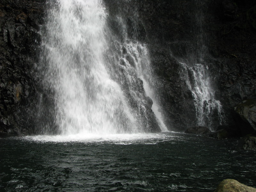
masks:
{"type": "MultiPolygon", "coordinates": [[[[118,12],[120,1],[104,2],[110,16],[118,12]]],[[[215,97],[223,105],[225,124],[235,126],[233,108],[237,104],[256,99],[256,3],[219,0],[198,6],[195,2],[130,2],[131,9],[140,16],[135,38],[148,44],[170,130],[184,131],[196,124],[193,96],[180,74],[182,68],[177,59],[199,54],[202,44],[207,47],[204,57],[211,63],[210,76],[215,97]],[[204,15],[200,23],[198,14],[204,15]],[[198,34],[202,34],[204,42],[198,34]]],[[[39,89],[34,68],[44,5],[44,0],[3,0],[0,4],[1,136],[36,132],[31,110],[36,106],[39,89]]],[[[126,14],[132,22],[132,13],[127,10],[126,14]]],[[[131,27],[131,36],[135,34],[133,30],[131,27]]]]}

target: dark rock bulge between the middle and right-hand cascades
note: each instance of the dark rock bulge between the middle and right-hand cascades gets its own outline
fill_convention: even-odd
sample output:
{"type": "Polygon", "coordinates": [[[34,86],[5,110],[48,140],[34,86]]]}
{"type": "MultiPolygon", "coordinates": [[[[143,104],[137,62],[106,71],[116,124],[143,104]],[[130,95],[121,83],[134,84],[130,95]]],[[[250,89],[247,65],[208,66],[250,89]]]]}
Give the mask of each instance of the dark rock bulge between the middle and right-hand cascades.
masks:
{"type": "Polygon", "coordinates": [[[151,63],[159,82],[157,92],[164,109],[165,124],[172,131],[196,125],[193,96],[180,78],[181,66],[164,46],[149,45],[151,63]]]}

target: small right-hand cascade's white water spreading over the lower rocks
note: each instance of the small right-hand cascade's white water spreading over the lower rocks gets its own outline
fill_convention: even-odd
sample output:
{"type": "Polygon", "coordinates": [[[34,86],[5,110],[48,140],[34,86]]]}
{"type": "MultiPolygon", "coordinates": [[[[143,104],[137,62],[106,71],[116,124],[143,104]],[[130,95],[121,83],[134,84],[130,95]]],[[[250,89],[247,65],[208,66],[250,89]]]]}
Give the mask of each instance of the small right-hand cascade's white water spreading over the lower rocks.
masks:
{"type": "Polygon", "coordinates": [[[198,126],[207,126],[212,131],[214,118],[217,115],[219,124],[222,124],[222,105],[219,100],[214,99],[211,79],[207,75],[208,67],[202,64],[195,64],[188,67],[185,63],[180,63],[183,67],[182,75],[192,92],[196,108],[198,126]]]}

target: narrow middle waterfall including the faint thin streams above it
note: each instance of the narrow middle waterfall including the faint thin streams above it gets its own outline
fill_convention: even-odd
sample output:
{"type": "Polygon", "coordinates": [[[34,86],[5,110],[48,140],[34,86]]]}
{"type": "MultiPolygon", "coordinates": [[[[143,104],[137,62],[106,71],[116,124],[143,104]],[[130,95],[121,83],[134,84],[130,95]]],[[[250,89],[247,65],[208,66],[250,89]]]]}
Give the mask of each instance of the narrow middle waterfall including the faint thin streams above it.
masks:
{"type": "MultiPolygon", "coordinates": [[[[125,73],[129,74],[128,76],[130,77],[133,76],[131,70],[135,70],[136,76],[143,82],[143,89],[145,90],[146,95],[153,101],[151,109],[156,115],[156,120],[161,131],[168,131],[168,128],[164,124],[162,108],[159,104],[160,99],[155,90],[155,87],[158,86],[158,82],[151,68],[147,44],[142,44],[139,41],[134,41],[133,39],[131,39],[134,37],[140,39],[141,35],[140,29],[138,28],[140,23],[138,16],[139,14],[137,13],[136,7],[131,10],[132,16],[130,16],[129,19],[132,21],[128,22],[132,22],[133,27],[130,31],[128,29],[129,27],[127,27],[127,21],[124,21],[124,19],[120,15],[116,17],[116,25],[120,26],[119,31],[122,34],[121,40],[116,40],[118,46],[121,47],[121,54],[118,56],[118,62],[121,62],[125,73]]],[[[133,80],[129,78],[128,81],[130,84],[132,84],[133,80]]],[[[131,89],[134,86],[129,87],[130,92],[134,93],[134,90],[131,89]]],[[[131,94],[129,97],[135,98],[135,100],[140,103],[140,99],[136,99],[133,94],[131,94]]]]}

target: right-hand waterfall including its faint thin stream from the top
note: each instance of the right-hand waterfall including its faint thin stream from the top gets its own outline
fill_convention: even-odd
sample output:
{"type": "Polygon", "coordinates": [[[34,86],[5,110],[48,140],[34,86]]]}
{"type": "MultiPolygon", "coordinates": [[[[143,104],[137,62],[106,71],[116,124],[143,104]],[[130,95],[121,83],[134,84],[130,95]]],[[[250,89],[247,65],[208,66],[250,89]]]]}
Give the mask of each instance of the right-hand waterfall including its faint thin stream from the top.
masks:
{"type": "Polygon", "coordinates": [[[206,19],[209,2],[192,0],[188,7],[191,26],[190,26],[190,45],[187,55],[178,58],[181,65],[181,78],[186,84],[194,98],[196,109],[196,125],[207,126],[214,131],[218,125],[224,121],[222,105],[219,100],[215,100],[214,78],[212,77],[212,65],[209,62],[210,54],[208,52],[207,34],[205,33],[206,19]]]}

